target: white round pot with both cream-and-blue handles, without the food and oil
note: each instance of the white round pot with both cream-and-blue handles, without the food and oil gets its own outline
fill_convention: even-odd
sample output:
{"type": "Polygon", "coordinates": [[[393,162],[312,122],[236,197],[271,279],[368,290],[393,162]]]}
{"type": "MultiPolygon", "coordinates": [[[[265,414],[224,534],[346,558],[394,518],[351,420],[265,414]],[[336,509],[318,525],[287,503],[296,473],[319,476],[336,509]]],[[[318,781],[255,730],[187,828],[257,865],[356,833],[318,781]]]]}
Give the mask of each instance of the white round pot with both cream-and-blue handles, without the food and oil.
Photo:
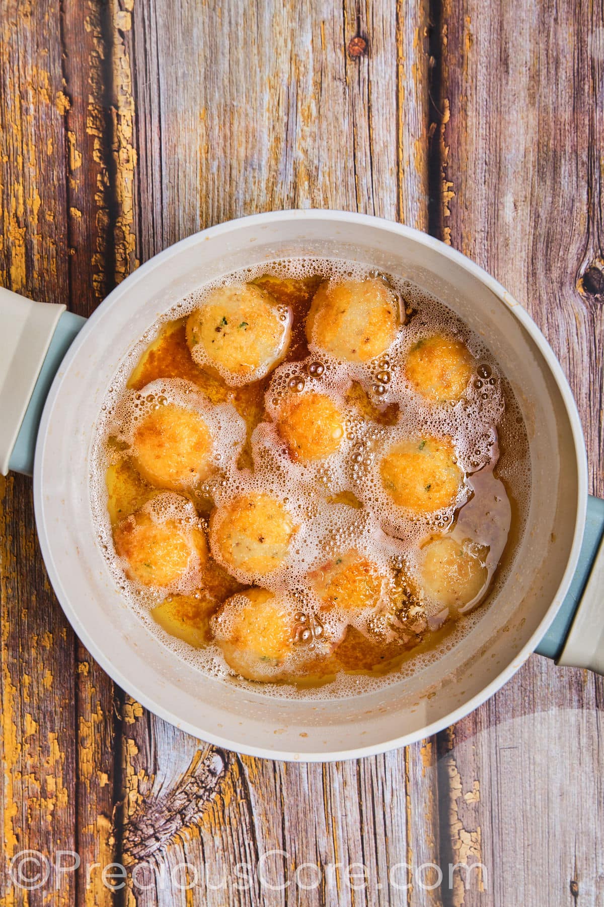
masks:
{"type": "Polygon", "coordinates": [[[536,647],[561,664],[604,671],[604,552],[598,552],[604,502],[588,502],[585,446],[569,386],[524,309],[436,239],[342,211],[261,214],[206,229],[151,258],[87,322],[7,290],[0,290],[0,317],[0,468],[32,472],[33,462],[43,558],[73,629],[122,688],[177,727],[255,756],[367,756],[465,716],[536,647]],[[531,442],[528,528],[484,618],[413,678],[337,701],[267,697],[206,678],[178,659],[120,598],[89,504],[102,398],[155,318],[206,280],[301,255],[354,258],[442,299],[490,346],[531,442]]]}

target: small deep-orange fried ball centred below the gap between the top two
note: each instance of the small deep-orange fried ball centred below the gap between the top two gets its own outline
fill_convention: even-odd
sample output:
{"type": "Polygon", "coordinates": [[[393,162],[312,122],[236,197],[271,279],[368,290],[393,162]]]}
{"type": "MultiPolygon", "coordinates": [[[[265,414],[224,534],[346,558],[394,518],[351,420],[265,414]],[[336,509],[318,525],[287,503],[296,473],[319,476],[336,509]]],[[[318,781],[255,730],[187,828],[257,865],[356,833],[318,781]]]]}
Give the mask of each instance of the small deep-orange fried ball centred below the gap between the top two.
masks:
{"type": "Polygon", "coordinates": [[[292,460],[322,460],[340,447],[344,419],[324,394],[292,394],[279,414],[277,429],[292,460]]]}

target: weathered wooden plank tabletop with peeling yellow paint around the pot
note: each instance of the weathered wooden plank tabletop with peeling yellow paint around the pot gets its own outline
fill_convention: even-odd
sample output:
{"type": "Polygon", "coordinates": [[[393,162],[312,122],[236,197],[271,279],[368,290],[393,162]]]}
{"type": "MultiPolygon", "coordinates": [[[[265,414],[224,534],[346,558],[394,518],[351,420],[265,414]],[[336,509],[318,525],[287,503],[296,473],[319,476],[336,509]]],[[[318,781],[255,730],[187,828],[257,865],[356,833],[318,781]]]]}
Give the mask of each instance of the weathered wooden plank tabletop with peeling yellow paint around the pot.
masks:
{"type": "MultiPolygon", "coordinates": [[[[225,219],[398,219],[532,313],[602,495],[603,70],[602,0],[1,0],[0,284],[88,315],[225,219]]],[[[0,521],[1,904],[604,903],[599,678],[533,656],[417,746],[238,756],[146,712],[82,648],[30,480],[2,482],[0,521]],[[22,884],[48,874],[29,892],[26,849],[22,884]],[[126,884],[119,866],[103,883],[111,862],[126,884]]]]}

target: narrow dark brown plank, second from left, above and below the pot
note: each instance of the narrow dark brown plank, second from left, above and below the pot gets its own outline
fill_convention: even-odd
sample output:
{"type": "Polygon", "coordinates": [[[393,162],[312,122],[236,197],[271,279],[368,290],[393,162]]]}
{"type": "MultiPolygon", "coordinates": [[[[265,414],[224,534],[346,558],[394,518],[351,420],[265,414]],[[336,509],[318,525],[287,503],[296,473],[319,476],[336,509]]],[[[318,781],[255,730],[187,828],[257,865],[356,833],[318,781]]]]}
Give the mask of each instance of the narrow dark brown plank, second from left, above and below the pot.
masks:
{"type": "MultiPolygon", "coordinates": [[[[110,176],[112,117],[106,88],[110,44],[104,5],[61,8],[65,112],[66,194],[69,245],[69,306],[90,315],[115,283],[113,219],[116,205],[110,176]]],[[[67,300],[65,300],[67,301],[67,300]]],[[[109,888],[101,867],[113,862],[111,825],[114,791],[113,684],[79,640],[75,651],[76,902],[106,904],[109,888]],[[98,864],[86,875],[88,867],[98,864]]]]}

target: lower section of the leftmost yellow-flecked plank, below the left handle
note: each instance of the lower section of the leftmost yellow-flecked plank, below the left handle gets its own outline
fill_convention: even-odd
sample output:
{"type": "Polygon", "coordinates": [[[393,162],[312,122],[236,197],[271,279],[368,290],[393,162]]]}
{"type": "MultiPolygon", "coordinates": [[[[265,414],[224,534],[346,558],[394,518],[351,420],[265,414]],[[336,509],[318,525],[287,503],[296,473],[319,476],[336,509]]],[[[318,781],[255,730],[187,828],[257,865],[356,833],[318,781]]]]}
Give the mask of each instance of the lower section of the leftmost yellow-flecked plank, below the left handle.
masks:
{"type": "MultiPolygon", "coordinates": [[[[5,862],[0,899],[10,903],[19,902],[20,879],[42,873],[53,886],[57,850],[75,850],[74,639],[43,569],[31,487],[22,476],[11,476],[1,481],[0,490],[5,862]],[[24,862],[19,854],[28,849],[37,853],[24,862]]],[[[71,904],[73,891],[67,878],[56,902],[71,904]]],[[[42,892],[32,892],[30,902],[42,903],[42,892]]]]}

